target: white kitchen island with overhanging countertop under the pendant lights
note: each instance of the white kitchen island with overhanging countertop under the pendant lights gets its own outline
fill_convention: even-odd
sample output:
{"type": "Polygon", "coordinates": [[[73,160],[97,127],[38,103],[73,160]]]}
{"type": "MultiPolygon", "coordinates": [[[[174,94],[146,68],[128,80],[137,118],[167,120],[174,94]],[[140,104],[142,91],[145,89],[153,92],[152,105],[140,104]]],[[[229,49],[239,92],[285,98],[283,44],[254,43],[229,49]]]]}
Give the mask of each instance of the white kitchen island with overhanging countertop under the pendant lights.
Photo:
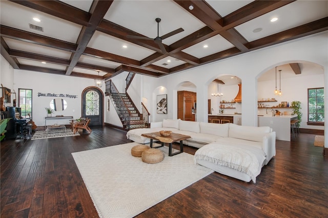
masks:
{"type": "Polygon", "coordinates": [[[291,141],[291,120],[297,115],[258,116],[258,126],[270,126],[276,132],[276,139],[291,141]]]}

